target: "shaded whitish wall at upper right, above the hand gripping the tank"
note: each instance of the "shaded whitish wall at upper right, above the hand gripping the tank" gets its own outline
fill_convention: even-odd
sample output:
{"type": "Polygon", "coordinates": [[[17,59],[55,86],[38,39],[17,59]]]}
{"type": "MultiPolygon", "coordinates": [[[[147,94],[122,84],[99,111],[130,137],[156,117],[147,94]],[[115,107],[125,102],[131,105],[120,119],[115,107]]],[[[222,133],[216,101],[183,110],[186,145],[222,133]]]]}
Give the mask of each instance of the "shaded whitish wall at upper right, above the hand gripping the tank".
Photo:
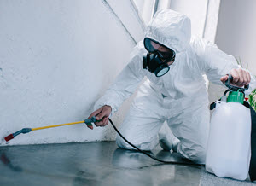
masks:
{"type": "Polygon", "coordinates": [[[230,55],[241,57],[244,67],[256,74],[256,1],[222,0],[216,44],[230,55]]]}

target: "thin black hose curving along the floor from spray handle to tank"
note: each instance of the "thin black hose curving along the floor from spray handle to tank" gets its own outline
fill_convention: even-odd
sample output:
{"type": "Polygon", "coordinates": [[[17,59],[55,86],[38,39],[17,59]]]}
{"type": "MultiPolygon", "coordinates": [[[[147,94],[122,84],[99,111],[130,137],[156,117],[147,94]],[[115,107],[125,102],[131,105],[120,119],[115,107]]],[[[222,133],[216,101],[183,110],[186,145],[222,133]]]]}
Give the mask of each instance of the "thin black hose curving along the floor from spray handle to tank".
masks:
{"type": "Polygon", "coordinates": [[[187,166],[187,165],[190,165],[190,166],[204,166],[202,164],[195,164],[195,163],[190,163],[190,162],[177,162],[177,161],[166,161],[166,160],[160,160],[156,157],[154,157],[154,155],[151,155],[151,154],[148,154],[147,152],[141,150],[140,148],[137,148],[134,144],[132,144],[131,142],[129,142],[128,140],[125,139],[125,137],[123,137],[123,135],[119,132],[119,130],[115,127],[115,125],[113,125],[113,121],[111,119],[109,119],[111,125],[113,126],[114,130],[119,134],[120,137],[122,137],[125,142],[127,142],[129,145],[131,145],[131,147],[133,148],[136,148],[139,152],[145,154],[145,155],[148,155],[148,157],[152,158],[153,160],[157,160],[157,161],[160,161],[162,163],[166,163],[166,164],[174,164],[174,165],[183,165],[183,166],[187,166]]]}

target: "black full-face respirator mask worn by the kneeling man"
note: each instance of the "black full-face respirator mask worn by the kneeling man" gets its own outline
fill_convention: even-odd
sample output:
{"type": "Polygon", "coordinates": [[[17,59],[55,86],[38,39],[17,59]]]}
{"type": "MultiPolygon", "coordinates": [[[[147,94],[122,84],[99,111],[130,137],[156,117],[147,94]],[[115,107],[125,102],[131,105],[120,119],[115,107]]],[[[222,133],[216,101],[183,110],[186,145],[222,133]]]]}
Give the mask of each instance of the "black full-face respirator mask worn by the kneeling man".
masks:
{"type": "Polygon", "coordinates": [[[161,77],[170,70],[167,63],[174,61],[175,52],[172,49],[169,49],[170,51],[168,52],[158,51],[157,49],[154,49],[152,42],[166,48],[166,46],[150,38],[145,38],[144,46],[145,49],[148,50],[148,53],[143,55],[143,68],[148,69],[150,73],[154,73],[156,77],[161,77]]]}

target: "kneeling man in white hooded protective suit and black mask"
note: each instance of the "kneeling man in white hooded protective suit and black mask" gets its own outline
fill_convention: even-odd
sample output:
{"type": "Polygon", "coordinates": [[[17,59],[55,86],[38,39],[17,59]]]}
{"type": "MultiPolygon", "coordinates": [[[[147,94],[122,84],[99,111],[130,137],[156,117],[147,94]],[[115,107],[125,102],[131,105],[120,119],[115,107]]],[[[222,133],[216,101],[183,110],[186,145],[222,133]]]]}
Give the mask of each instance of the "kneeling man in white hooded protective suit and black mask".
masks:
{"type": "MultiPolygon", "coordinates": [[[[119,131],[138,148],[152,150],[166,121],[174,137],[171,131],[161,134],[161,147],[204,164],[210,111],[203,74],[214,84],[224,83],[231,74],[237,86],[250,82],[251,87],[255,85],[255,79],[236,64],[233,56],[215,44],[191,38],[186,15],[160,10],[149,23],[143,41],[131,53],[131,61],[96,102],[96,111],[89,118],[102,119],[96,126],[108,125],[110,114],[146,77],[119,131]]],[[[120,148],[133,149],[119,136],[116,142],[120,148]]]]}

